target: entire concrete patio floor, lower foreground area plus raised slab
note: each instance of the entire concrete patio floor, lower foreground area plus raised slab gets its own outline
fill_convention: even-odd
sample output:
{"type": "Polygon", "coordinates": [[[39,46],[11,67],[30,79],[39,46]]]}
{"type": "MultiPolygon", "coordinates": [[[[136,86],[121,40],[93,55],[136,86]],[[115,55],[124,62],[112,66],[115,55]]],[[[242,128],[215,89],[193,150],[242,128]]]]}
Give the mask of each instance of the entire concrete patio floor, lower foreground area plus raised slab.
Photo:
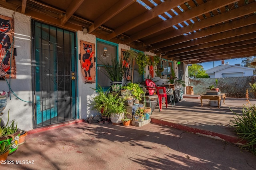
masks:
{"type": "Polygon", "coordinates": [[[156,108],[151,118],[152,122],[185,127],[185,130],[156,123],[124,127],[72,122],[44,127],[31,130],[26,142],[7,158],[10,162],[25,164],[18,162],[0,167],[4,170],[256,169],[256,156],[241,147],[206,134],[186,132],[197,130],[199,134],[212,132],[236,137],[229,126],[234,117],[229,107],[241,113],[242,103],[246,104],[244,99],[227,98],[220,109],[207,105],[206,100],[201,107],[200,99],[184,99],[186,101],[176,103],[173,108],[169,105],[161,112],[156,108]]]}

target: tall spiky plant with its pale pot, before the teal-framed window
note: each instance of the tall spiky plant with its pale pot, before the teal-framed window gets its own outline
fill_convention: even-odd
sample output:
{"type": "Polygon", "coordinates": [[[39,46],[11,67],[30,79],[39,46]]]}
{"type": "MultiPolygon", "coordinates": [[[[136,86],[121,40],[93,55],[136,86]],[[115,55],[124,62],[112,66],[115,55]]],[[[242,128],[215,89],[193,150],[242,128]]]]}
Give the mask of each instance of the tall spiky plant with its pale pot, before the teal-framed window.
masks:
{"type": "Polygon", "coordinates": [[[111,58],[111,64],[107,62],[104,63],[103,66],[106,71],[102,71],[102,73],[110,79],[112,91],[120,91],[122,87],[122,79],[127,69],[125,65],[116,58],[111,58]]]}

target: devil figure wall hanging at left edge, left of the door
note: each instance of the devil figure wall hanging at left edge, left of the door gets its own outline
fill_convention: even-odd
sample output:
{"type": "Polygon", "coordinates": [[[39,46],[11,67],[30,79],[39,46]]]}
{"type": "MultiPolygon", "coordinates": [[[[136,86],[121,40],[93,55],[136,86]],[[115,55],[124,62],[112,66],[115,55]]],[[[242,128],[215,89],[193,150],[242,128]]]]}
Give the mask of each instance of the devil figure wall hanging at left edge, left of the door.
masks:
{"type": "Polygon", "coordinates": [[[0,15],[0,77],[6,78],[16,78],[11,23],[12,18],[0,15]]]}

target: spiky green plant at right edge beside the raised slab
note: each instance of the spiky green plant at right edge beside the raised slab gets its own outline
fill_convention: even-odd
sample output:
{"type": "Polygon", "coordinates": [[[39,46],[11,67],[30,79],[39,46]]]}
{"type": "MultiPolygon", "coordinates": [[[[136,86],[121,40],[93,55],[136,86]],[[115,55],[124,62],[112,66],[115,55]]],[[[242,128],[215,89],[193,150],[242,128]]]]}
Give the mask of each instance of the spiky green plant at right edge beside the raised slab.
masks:
{"type": "Polygon", "coordinates": [[[244,147],[248,147],[250,151],[256,154],[256,106],[252,105],[249,101],[248,89],[246,90],[246,105],[243,105],[242,115],[234,113],[234,121],[231,121],[232,126],[236,128],[236,133],[242,140],[247,143],[244,147]]]}

